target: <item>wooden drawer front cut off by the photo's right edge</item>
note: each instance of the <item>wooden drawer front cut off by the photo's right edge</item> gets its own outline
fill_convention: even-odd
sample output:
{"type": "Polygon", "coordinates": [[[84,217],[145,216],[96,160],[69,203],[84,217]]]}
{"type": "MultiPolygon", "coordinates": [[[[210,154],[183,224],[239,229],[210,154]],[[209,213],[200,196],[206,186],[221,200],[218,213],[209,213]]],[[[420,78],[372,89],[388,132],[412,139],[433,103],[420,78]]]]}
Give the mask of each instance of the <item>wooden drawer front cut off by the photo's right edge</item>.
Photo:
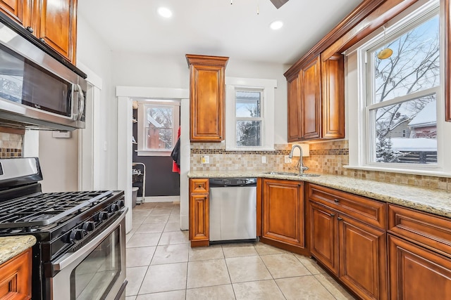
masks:
{"type": "Polygon", "coordinates": [[[388,231],[451,257],[451,220],[388,205],[388,231]]]}

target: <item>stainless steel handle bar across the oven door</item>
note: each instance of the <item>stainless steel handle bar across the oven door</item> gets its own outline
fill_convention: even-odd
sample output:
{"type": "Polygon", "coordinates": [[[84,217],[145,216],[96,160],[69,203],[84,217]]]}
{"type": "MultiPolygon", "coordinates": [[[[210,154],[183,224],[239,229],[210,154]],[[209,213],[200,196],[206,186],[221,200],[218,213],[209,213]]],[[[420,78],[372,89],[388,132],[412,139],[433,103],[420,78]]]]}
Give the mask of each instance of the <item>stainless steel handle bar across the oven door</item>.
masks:
{"type": "Polygon", "coordinates": [[[51,265],[53,269],[56,271],[63,270],[63,268],[70,266],[71,263],[80,259],[82,256],[91,253],[92,250],[94,250],[100,244],[100,242],[104,240],[105,237],[110,235],[113,229],[121,223],[121,221],[125,218],[125,213],[128,211],[128,207],[124,207],[121,211],[123,211],[121,216],[119,216],[119,218],[114,221],[114,223],[112,223],[108,228],[97,235],[97,237],[94,237],[92,241],[88,242],[85,246],[83,246],[81,249],[78,249],[76,252],[64,254],[60,259],[52,263],[51,265]]]}

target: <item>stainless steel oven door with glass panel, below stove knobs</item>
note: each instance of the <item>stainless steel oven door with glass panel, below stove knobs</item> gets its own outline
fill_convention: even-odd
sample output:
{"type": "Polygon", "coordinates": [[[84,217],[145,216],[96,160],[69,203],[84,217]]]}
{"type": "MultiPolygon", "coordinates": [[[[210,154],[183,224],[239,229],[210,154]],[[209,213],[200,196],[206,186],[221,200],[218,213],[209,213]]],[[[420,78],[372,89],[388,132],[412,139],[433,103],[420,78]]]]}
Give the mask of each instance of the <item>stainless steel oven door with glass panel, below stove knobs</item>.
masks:
{"type": "Polygon", "coordinates": [[[57,299],[125,299],[125,212],[81,249],[53,262],[47,278],[57,299]]]}

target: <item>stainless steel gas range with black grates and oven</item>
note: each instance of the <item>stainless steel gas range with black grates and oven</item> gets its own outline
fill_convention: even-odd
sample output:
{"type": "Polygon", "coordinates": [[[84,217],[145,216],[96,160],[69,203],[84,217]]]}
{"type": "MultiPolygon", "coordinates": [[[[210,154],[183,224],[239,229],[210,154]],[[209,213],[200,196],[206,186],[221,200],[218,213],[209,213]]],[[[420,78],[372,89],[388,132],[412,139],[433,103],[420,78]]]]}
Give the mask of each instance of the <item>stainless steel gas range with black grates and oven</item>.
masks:
{"type": "Polygon", "coordinates": [[[37,158],[0,159],[0,236],[34,235],[32,299],[125,299],[123,191],[42,193],[37,158]]]}

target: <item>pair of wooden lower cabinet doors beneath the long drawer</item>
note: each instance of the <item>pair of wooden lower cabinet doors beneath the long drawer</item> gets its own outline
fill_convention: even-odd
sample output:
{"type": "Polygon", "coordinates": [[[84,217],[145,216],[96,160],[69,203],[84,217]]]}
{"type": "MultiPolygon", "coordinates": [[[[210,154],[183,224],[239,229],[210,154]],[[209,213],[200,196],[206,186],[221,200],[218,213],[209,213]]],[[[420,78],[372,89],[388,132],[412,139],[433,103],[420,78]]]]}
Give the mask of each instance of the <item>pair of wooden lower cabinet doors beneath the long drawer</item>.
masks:
{"type": "Polygon", "coordinates": [[[362,299],[387,299],[384,230],[309,203],[311,254],[362,299]]]}

